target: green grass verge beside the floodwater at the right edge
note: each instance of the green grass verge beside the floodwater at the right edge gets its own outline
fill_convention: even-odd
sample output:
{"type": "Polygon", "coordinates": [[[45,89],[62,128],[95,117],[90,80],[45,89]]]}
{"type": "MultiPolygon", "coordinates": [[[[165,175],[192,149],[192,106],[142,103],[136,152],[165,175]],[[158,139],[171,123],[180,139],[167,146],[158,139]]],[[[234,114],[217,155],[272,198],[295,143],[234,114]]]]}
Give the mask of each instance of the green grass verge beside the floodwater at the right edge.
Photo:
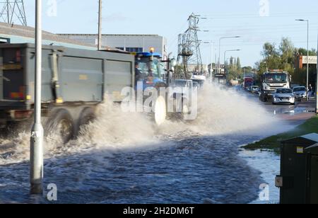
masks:
{"type": "Polygon", "coordinates": [[[266,139],[262,139],[259,142],[255,142],[252,144],[247,144],[245,149],[271,149],[271,150],[279,150],[281,147],[281,141],[290,139],[293,137],[299,137],[304,134],[310,133],[318,133],[318,116],[312,117],[310,120],[307,120],[304,124],[295,127],[295,129],[290,130],[288,132],[284,132],[282,134],[276,134],[266,139]]]}

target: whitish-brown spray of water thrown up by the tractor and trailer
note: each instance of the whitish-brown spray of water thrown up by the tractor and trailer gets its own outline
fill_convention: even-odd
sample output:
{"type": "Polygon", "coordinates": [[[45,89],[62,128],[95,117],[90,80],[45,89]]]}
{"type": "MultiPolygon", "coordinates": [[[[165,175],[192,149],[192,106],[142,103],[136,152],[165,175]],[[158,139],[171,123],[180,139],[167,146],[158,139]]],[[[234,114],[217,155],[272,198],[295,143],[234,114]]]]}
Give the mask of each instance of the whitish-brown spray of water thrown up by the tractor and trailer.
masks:
{"type": "MultiPolygon", "coordinates": [[[[278,131],[277,118],[253,99],[236,91],[206,84],[199,93],[199,113],[189,122],[167,120],[155,127],[153,120],[143,113],[124,113],[120,105],[103,103],[98,106],[97,119],[83,127],[78,139],[67,145],[50,136],[45,142],[47,157],[81,153],[87,149],[146,148],[160,141],[162,136],[192,137],[194,135],[267,134],[278,131]]],[[[279,121],[281,122],[281,121],[279,121]]],[[[281,130],[280,128],[280,131],[281,130]]],[[[21,132],[14,139],[0,139],[0,164],[25,161],[29,157],[30,134],[21,132]]]]}

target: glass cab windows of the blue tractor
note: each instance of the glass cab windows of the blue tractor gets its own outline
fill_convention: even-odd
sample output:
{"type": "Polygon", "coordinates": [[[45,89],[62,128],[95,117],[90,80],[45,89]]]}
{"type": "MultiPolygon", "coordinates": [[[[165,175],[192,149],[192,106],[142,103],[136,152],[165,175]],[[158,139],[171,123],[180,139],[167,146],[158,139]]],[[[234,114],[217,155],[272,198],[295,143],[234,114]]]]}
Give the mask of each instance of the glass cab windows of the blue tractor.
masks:
{"type": "Polygon", "coordinates": [[[161,79],[162,74],[164,74],[164,67],[158,58],[153,58],[152,62],[148,58],[142,58],[136,62],[137,81],[148,77],[161,79]]]}

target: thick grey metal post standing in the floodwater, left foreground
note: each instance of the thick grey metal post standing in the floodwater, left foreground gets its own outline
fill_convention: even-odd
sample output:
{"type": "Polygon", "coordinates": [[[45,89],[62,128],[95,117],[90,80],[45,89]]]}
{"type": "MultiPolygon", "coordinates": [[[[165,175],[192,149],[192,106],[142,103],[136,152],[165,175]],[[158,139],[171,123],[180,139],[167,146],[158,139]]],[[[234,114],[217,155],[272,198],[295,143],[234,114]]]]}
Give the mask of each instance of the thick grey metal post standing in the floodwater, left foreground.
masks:
{"type": "Polygon", "coordinates": [[[35,0],[35,109],[30,138],[30,194],[43,192],[43,135],[41,124],[42,90],[42,0],[35,0]]]}

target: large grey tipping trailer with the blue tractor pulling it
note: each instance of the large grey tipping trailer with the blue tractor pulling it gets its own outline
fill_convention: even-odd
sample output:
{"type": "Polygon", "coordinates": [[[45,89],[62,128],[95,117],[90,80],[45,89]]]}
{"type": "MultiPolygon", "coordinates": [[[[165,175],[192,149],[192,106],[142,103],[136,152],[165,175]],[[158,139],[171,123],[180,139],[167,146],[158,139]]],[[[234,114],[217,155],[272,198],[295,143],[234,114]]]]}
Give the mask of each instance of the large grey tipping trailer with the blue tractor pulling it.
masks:
{"type": "MultiPolygon", "coordinates": [[[[153,88],[158,88],[158,84],[169,86],[171,76],[165,81],[159,74],[154,76],[157,74],[153,70],[159,72],[160,64],[159,57],[154,55],[43,46],[42,123],[45,135],[56,132],[64,143],[69,142],[81,126],[95,119],[95,109],[100,103],[110,99],[121,103],[126,97],[121,95],[123,88],[134,88],[137,81],[153,88]],[[135,62],[148,66],[139,78],[135,77],[135,62]]],[[[160,74],[162,71],[171,74],[171,70],[160,68],[160,74]]],[[[32,124],[34,85],[35,45],[0,45],[0,132],[32,124]]],[[[159,96],[155,108],[153,117],[161,124],[167,112],[165,98],[159,96]]]]}

